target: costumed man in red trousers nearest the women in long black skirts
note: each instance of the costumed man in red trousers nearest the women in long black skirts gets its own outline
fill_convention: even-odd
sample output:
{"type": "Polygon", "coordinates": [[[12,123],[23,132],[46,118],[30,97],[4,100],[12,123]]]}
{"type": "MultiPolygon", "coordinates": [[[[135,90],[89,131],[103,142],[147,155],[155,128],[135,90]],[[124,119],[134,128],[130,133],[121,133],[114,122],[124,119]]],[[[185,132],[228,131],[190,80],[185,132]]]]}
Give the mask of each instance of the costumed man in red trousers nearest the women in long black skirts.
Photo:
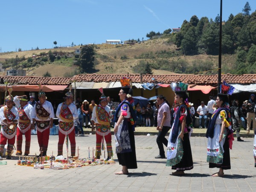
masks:
{"type": "Polygon", "coordinates": [[[94,131],[94,125],[96,126],[96,159],[100,158],[101,155],[101,145],[104,145],[104,138],[107,144],[107,153],[109,160],[113,156],[112,145],[111,145],[111,109],[108,107],[107,97],[104,95],[102,88],[99,89],[102,93],[100,99],[100,104],[93,108],[92,113],[92,131],[94,131]]]}

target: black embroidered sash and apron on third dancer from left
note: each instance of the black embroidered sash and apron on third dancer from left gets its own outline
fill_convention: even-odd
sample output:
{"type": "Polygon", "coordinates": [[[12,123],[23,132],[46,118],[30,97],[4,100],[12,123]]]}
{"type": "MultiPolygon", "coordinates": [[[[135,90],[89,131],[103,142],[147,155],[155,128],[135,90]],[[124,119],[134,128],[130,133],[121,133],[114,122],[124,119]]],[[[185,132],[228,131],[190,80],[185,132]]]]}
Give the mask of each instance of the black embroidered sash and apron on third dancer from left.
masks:
{"type": "Polygon", "coordinates": [[[49,118],[50,113],[48,113],[48,111],[45,110],[45,108],[40,102],[37,102],[35,104],[35,112],[38,119],[40,119],[35,121],[36,129],[39,132],[43,132],[44,130],[49,128],[50,121],[47,121],[47,119],[49,118]]]}

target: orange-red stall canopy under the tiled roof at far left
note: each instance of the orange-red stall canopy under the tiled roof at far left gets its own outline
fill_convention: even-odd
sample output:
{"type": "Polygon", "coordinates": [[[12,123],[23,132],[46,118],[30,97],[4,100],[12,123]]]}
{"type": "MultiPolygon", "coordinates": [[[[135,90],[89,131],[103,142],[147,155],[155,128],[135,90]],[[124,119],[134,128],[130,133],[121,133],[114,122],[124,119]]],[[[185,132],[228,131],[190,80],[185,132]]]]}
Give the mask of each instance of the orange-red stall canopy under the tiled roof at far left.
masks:
{"type": "MultiPolygon", "coordinates": [[[[63,91],[67,85],[42,85],[42,90],[44,92],[52,91],[63,91]]],[[[0,86],[0,89],[5,89],[6,86],[0,86]]],[[[7,88],[12,88],[13,91],[29,91],[29,92],[38,92],[40,91],[38,85],[8,85],[7,88]]]]}

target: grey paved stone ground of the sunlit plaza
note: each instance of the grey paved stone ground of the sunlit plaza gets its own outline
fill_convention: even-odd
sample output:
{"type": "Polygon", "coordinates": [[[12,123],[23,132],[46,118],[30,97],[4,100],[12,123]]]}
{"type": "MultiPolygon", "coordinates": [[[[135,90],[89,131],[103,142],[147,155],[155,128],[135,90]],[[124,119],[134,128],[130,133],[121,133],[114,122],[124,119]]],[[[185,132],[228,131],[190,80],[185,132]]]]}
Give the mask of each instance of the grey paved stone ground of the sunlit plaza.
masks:
{"type": "MultiPolygon", "coordinates": [[[[17,166],[18,158],[14,157],[7,160],[7,165],[0,166],[0,191],[256,191],[253,138],[244,138],[245,142],[234,141],[233,150],[230,150],[231,170],[224,171],[225,177],[211,176],[218,169],[209,169],[206,162],[207,138],[191,137],[194,169],[186,171],[182,177],[170,175],[173,170],[165,166],[165,159],[154,158],[158,154],[155,140],[156,136],[135,136],[138,169],[130,169],[129,175],[114,175],[121,170],[116,155],[113,165],[65,170],[17,166]]],[[[88,147],[95,147],[95,142],[95,135],[76,137],[81,157],[88,156],[88,147]]],[[[47,154],[52,151],[57,154],[57,143],[58,136],[50,136],[47,154]]],[[[32,135],[30,151],[31,154],[38,153],[36,135],[32,135]]]]}

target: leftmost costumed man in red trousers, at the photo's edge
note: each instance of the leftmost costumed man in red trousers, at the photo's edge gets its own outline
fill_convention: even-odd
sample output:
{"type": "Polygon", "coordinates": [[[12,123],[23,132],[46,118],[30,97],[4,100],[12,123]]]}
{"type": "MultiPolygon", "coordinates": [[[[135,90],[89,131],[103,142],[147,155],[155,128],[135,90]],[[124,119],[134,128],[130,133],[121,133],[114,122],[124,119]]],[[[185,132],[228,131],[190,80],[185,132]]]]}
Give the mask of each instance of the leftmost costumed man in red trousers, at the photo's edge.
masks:
{"type": "Polygon", "coordinates": [[[0,136],[0,160],[3,160],[3,148],[8,141],[7,157],[12,159],[11,152],[15,143],[15,135],[18,123],[18,110],[13,106],[12,89],[9,90],[9,96],[6,97],[6,105],[0,109],[1,136],[0,136]]]}

